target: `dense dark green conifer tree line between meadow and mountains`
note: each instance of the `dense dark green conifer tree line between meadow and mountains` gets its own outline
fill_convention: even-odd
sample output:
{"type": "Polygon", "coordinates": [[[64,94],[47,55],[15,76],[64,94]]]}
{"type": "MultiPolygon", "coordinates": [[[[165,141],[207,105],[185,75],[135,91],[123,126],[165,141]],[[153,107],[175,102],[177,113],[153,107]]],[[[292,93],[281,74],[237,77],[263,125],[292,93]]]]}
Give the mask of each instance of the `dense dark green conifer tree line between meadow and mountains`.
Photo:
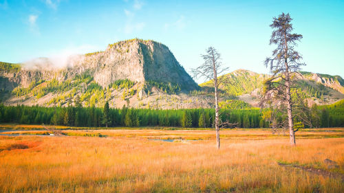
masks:
{"type": "MultiPolygon", "coordinates": [[[[215,109],[153,110],[110,109],[68,106],[4,106],[0,104],[1,123],[51,124],[63,126],[102,127],[102,126],[175,126],[183,128],[212,128],[215,109]]],[[[233,123],[237,128],[268,128],[270,120],[264,115],[268,109],[222,109],[220,122],[233,123]]],[[[344,100],[327,106],[314,106],[309,109],[312,127],[344,126],[344,100]]],[[[308,123],[295,118],[295,122],[308,123]]],[[[278,119],[277,119],[278,120],[278,119]]],[[[282,118],[280,120],[283,120],[282,118]]]]}

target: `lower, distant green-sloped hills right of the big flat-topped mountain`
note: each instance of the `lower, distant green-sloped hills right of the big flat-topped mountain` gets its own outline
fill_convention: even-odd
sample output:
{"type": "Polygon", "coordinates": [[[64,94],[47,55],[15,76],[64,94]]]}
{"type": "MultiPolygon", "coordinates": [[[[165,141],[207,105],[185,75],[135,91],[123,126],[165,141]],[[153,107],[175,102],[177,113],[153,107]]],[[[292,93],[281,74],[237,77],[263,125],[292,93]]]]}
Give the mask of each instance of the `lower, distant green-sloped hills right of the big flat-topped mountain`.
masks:
{"type": "MultiPolygon", "coordinates": [[[[297,87],[305,93],[310,104],[332,104],[344,99],[344,81],[340,76],[305,71],[301,71],[301,75],[297,76],[297,87]]],[[[264,80],[270,78],[268,74],[255,73],[245,69],[238,69],[224,76],[230,84],[224,84],[220,89],[226,95],[243,100],[252,106],[257,106],[257,98],[263,90],[264,80]]],[[[206,89],[212,84],[213,81],[210,80],[200,86],[206,89]]]]}

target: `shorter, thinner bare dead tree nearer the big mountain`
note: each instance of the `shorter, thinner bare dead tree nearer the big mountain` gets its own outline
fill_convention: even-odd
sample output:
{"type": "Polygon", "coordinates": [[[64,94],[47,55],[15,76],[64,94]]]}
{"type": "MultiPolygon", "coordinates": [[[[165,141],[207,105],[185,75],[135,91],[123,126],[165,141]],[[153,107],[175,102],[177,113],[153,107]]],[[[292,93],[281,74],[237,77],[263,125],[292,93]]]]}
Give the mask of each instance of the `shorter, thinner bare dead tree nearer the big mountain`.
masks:
{"type": "Polygon", "coordinates": [[[218,77],[228,68],[222,67],[222,59],[219,52],[214,47],[208,47],[206,54],[201,55],[204,63],[196,69],[191,69],[194,78],[204,77],[206,80],[213,80],[215,89],[215,131],[216,131],[216,146],[219,149],[219,85],[224,83],[224,76],[218,77]]]}

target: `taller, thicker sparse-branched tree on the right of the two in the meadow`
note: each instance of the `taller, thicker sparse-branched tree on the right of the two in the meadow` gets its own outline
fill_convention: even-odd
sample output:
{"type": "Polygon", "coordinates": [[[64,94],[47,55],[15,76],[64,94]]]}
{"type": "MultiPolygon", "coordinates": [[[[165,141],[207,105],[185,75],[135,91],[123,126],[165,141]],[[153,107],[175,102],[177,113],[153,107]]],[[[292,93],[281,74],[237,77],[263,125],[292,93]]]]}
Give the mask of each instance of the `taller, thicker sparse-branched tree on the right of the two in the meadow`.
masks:
{"type": "MultiPolygon", "coordinates": [[[[288,115],[288,130],[290,145],[294,146],[295,135],[292,117],[293,101],[291,89],[294,85],[295,73],[299,73],[300,67],[305,65],[299,62],[302,57],[294,50],[297,41],[302,38],[301,34],[292,34],[292,19],[290,14],[280,14],[274,17],[270,27],[274,29],[270,38],[270,45],[277,45],[272,51],[272,56],[266,58],[265,65],[270,67],[272,78],[266,81],[266,98],[275,101],[275,104],[286,106],[288,115]]],[[[299,73],[301,76],[301,74],[299,73]]]]}

